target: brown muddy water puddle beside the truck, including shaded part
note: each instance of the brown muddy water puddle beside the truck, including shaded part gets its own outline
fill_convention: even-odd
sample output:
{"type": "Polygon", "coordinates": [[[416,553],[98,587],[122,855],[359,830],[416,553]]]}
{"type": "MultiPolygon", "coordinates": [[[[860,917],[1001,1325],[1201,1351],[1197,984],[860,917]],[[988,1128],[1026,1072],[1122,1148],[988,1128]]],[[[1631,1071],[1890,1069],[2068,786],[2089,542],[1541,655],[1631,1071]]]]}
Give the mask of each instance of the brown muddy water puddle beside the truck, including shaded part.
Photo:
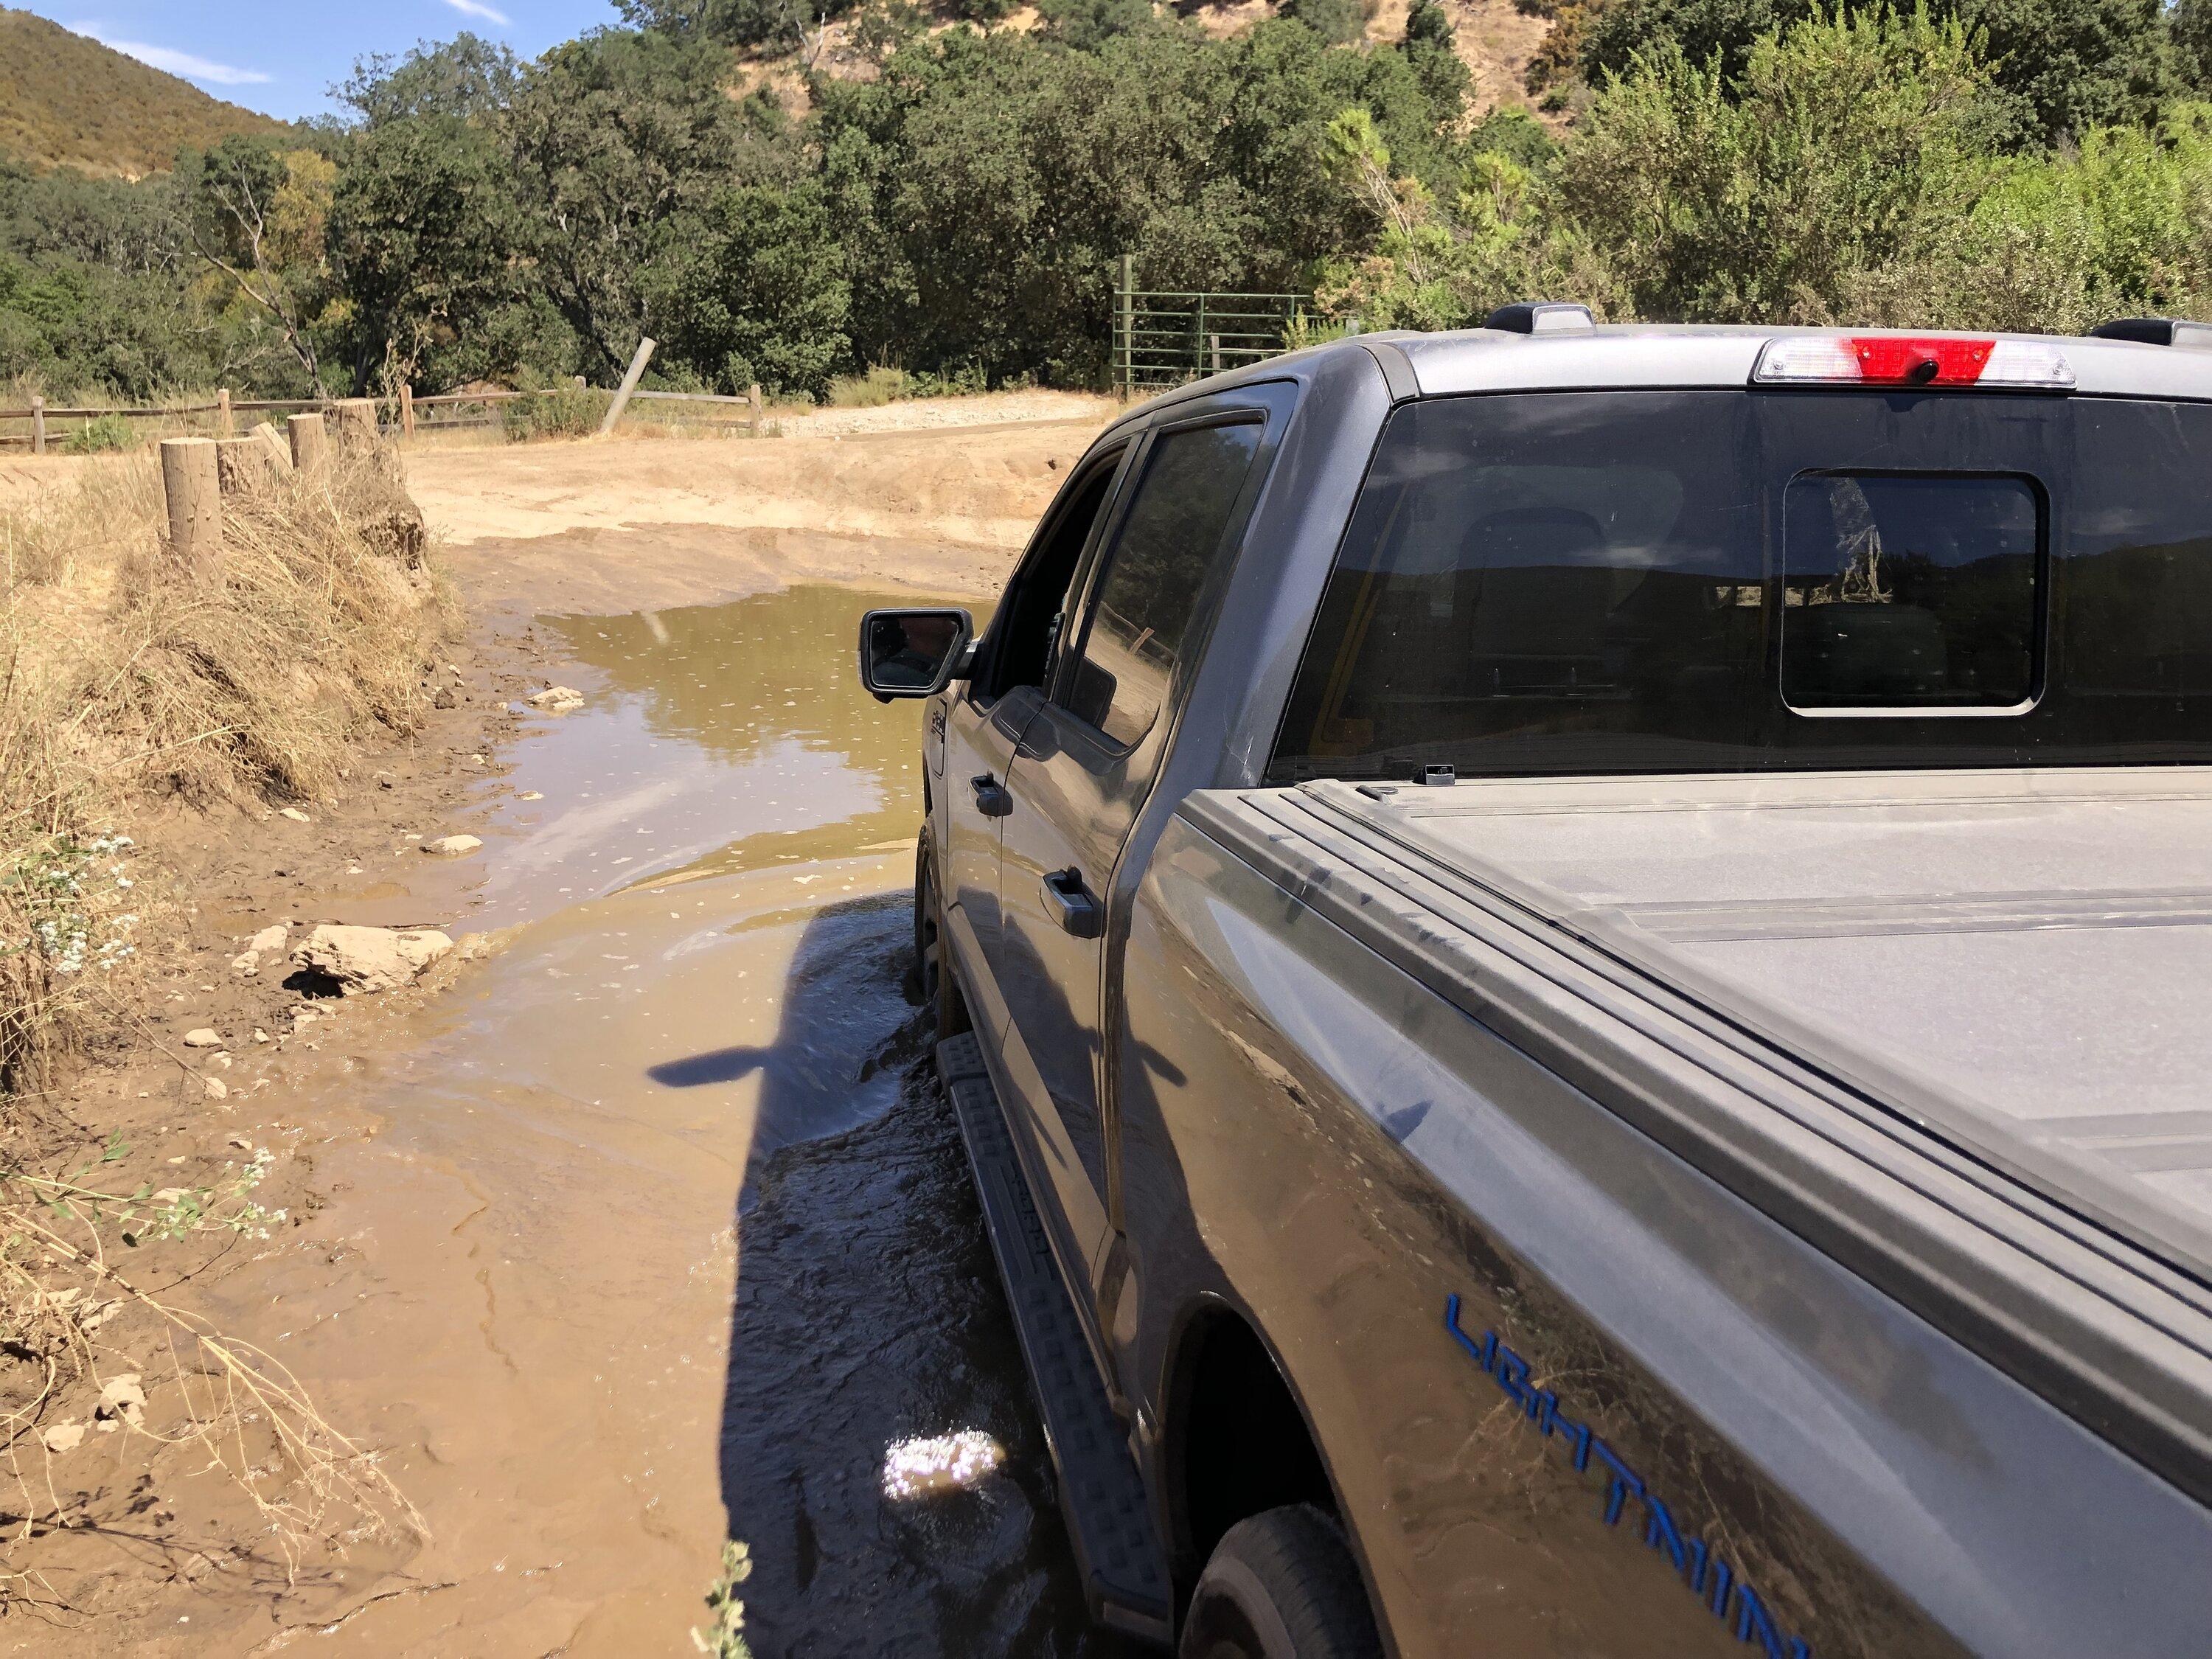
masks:
{"type": "Polygon", "coordinates": [[[332,1203],[230,1310],[434,1535],[239,1648],[688,1652],[734,1535],[761,1659],[1106,1652],[902,991],[918,714],[852,684],[869,602],[546,619],[588,703],[487,785],[504,945],[301,1066],[332,1203]],[[995,1473],[883,1493],[969,1429],[995,1473]]]}

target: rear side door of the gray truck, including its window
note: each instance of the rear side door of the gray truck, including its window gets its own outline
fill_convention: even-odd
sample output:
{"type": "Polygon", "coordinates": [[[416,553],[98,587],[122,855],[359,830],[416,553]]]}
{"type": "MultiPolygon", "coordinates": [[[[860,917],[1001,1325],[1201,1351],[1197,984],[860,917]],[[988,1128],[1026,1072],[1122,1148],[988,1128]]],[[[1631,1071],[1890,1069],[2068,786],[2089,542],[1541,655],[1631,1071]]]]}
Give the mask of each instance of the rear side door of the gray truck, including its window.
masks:
{"type": "Polygon", "coordinates": [[[1219,595],[1250,513],[1263,409],[1155,431],[1084,582],[1048,697],[1013,754],[1002,918],[1009,1113],[1057,1199],[1071,1283],[1108,1234],[1102,1121],[1106,896],[1172,726],[1194,619],[1219,595]]]}

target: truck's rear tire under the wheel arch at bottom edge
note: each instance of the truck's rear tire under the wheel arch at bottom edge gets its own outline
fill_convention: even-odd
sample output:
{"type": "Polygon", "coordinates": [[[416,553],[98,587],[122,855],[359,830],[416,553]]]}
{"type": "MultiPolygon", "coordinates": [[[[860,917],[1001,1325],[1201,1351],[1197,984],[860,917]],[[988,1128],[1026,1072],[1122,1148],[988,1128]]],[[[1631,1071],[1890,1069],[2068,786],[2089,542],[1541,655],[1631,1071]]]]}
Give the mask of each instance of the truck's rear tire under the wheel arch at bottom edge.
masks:
{"type": "Polygon", "coordinates": [[[1345,1535],[1312,1504],[1237,1522],[1183,1617],[1181,1659],[1383,1659],[1345,1535]]]}

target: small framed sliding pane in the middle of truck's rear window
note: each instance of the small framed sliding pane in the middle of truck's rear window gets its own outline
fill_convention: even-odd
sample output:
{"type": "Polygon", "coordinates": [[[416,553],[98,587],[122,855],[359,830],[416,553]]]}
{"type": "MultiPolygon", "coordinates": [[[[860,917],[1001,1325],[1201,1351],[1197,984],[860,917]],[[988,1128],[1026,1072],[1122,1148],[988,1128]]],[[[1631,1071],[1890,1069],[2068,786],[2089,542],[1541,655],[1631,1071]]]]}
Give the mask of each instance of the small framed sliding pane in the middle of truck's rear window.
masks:
{"type": "Polygon", "coordinates": [[[2035,695],[2042,511],[2020,478],[1790,482],[1792,708],[2011,708],[2035,695]]]}

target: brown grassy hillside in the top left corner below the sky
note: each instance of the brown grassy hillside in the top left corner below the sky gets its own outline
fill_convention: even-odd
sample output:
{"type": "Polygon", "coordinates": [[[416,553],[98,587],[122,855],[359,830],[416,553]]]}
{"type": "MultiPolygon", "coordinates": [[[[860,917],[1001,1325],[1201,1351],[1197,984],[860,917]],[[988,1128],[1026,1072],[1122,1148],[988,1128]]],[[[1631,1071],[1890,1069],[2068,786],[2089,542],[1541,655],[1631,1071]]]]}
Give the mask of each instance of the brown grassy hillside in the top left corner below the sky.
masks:
{"type": "Polygon", "coordinates": [[[139,177],[166,168],[186,144],[276,131],[283,122],[29,11],[0,9],[0,157],[139,177]]]}

